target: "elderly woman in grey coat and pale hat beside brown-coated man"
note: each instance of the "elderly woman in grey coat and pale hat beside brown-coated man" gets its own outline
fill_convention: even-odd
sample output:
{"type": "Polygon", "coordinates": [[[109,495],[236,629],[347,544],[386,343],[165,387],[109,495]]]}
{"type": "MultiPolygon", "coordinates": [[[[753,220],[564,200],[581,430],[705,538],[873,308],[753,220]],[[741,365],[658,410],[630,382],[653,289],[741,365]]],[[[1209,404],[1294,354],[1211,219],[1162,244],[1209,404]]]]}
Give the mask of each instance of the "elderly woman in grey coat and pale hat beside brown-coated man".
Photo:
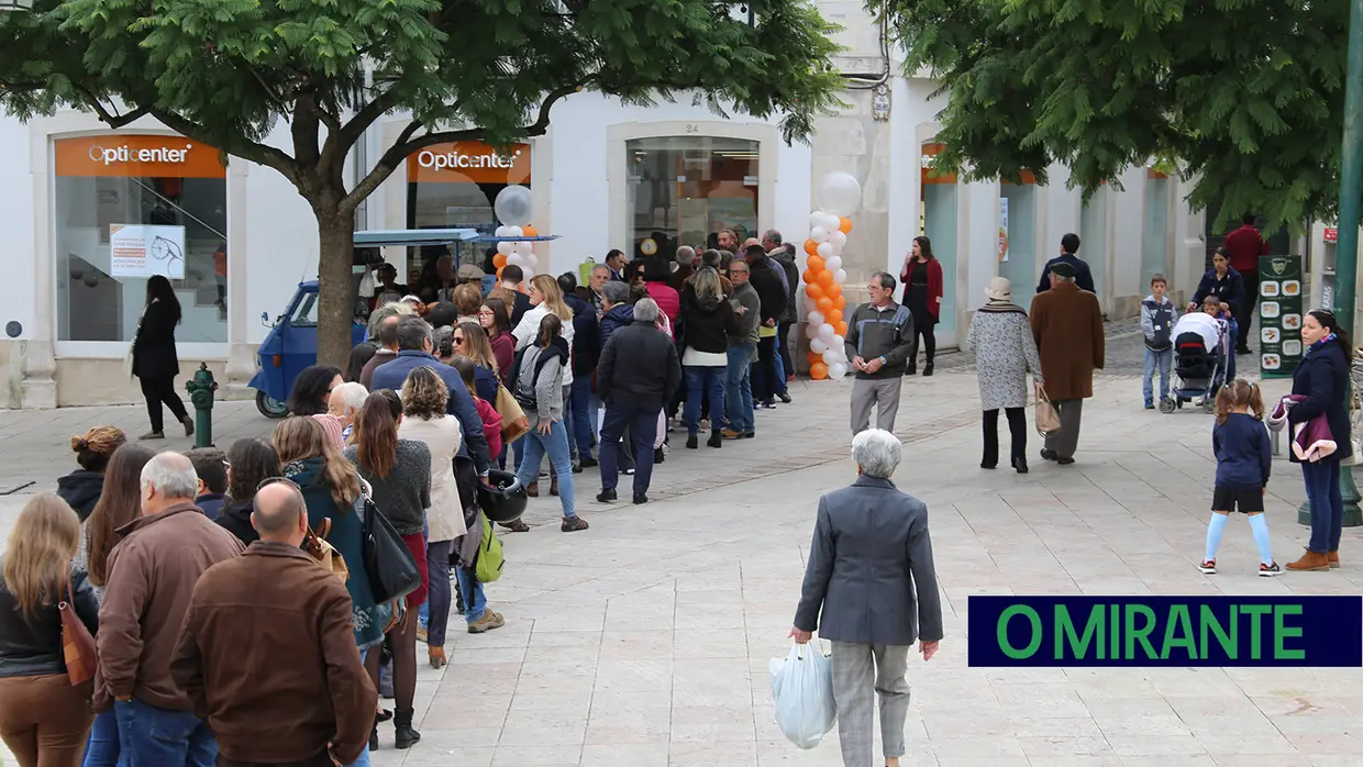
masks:
{"type": "Polygon", "coordinates": [[[984,410],[984,456],[980,469],[999,465],[999,409],[1007,413],[1013,436],[1010,463],[1026,474],[1026,375],[1032,372],[1040,388],[1041,358],[1032,339],[1032,323],[1022,307],[1013,302],[1013,286],[1003,277],[990,281],[988,301],[970,320],[966,341],[975,349],[979,369],[980,409],[984,410]]]}

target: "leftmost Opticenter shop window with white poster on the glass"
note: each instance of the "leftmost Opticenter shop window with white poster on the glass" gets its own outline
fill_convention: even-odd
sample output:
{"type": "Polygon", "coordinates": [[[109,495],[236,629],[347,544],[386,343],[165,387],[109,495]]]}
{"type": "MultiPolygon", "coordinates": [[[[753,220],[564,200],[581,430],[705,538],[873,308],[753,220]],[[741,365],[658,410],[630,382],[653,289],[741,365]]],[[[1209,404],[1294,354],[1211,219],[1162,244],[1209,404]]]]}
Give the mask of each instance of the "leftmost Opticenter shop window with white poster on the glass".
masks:
{"type": "Polygon", "coordinates": [[[218,150],[177,136],[55,142],[60,341],[132,341],[147,278],[170,278],[180,342],[228,341],[228,189],[218,150]]]}

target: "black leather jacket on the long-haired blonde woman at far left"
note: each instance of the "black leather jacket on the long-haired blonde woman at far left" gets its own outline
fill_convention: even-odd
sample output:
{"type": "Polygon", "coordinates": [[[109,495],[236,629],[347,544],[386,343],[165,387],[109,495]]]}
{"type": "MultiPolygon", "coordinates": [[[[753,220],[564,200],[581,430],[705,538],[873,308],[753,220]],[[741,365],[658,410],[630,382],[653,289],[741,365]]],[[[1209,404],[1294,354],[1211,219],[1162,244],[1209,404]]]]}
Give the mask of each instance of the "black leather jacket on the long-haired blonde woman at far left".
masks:
{"type": "MultiPolygon", "coordinates": [[[[99,602],[83,571],[72,571],[71,589],[75,591],[76,614],[94,633],[99,627],[99,602]]],[[[64,673],[67,663],[61,658],[61,614],[57,606],[38,608],[33,617],[26,619],[0,575],[0,677],[64,673]]]]}

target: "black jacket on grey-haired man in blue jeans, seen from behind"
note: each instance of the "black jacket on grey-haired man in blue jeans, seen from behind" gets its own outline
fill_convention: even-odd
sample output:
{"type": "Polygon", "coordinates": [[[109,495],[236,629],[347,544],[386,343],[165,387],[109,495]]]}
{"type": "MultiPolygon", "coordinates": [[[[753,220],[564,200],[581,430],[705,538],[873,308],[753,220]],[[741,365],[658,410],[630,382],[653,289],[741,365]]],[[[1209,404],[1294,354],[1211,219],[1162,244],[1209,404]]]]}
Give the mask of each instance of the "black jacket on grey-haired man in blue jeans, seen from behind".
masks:
{"type": "Polygon", "coordinates": [[[611,334],[597,364],[597,394],[607,405],[657,410],[682,386],[677,347],[649,322],[611,334]]]}

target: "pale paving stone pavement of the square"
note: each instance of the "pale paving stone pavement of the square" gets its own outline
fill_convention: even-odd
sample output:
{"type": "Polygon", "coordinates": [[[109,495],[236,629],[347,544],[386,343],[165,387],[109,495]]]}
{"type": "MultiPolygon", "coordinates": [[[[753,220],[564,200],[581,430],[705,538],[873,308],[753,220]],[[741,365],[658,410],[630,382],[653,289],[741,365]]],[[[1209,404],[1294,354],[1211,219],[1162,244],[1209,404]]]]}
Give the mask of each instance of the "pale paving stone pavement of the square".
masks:
{"type": "MultiPolygon", "coordinates": [[[[1363,669],[968,668],[972,594],[1360,594],[1363,533],[1345,531],[1340,569],[1261,579],[1235,520],[1221,574],[1205,576],[1194,565],[1210,499],[1209,416],[1145,411],[1135,380],[1104,376],[1085,406],[1078,463],[1033,459],[1018,475],[977,466],[973,373],[905,383],[895,481],[930,507],[946,639],[931,662],[910,658],[904,764],[1363,764],[1363,669]]],[[[836,730],[812,751],[781,737],[767,662],[789,647],[816,499],[853,480],[849,390],[797,384],[793,405],[761,411],[758,439],[672,451],[647,505],[579,503],[586,533],[559,533],[556,499],[533,500],[533,530],[504,537],[506,575],[488,590],[507,625],[451,633],[450,666],[418,672],[423,741],[395,751],[384,727],[375,764],[840,764],[836,730]]],[[[234,407],[224,409],[225,433],[270,428],[234,407]]],[[[135,409],[0,414],[14,456],[0,484],[41,471],[48,488],[70,465],[59,443],[78,424],[140,418],[135,409]]],[[[1037,447],[1033,437],[1032,455],[1037,447]]],[[[594,475],[575,480],[589,500],[594,475]]],[[[0,499],[0,533],[26,492],[0,499]]],[[[1300,475],[1285,459],[1268,500],[1285,561],[1306,538],[1295,523],[1300,475]]]]}

